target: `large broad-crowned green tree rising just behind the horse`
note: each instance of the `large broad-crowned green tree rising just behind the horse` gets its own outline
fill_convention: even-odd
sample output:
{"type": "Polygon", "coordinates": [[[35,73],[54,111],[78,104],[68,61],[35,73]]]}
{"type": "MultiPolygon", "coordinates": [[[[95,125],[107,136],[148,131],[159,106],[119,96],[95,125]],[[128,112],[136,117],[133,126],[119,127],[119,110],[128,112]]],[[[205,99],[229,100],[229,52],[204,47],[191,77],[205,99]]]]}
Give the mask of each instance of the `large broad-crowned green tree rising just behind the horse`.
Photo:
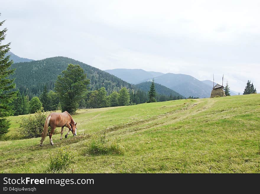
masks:
{"type": "Polygon", "coordinates": [[[55,90],[61,102],[61,111],[76,113],[80,100],[86,96],[90,80],[79,65],[69,64],[67,69],[62,71],[55,83],[55,90]]]}

